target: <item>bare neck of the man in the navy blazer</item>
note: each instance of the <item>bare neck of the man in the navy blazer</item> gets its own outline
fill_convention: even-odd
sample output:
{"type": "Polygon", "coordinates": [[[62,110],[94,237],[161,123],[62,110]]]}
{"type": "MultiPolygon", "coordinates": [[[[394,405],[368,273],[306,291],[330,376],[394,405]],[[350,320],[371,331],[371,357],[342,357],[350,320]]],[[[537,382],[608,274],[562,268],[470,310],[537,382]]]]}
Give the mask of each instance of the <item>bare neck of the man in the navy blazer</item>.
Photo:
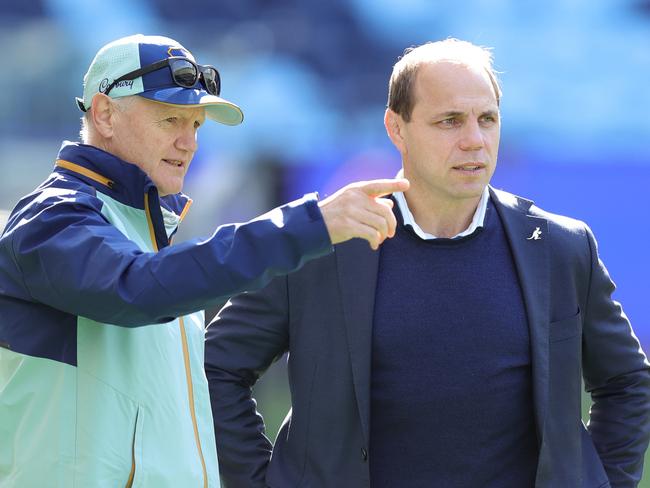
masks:
{"type": "Polygon", "coordinates": [[[451,200],[422,193],[411,186],[404,194],[409,210],[424,232],[444,238],[454,237],[469,227],[482,195],[451,200]]]}

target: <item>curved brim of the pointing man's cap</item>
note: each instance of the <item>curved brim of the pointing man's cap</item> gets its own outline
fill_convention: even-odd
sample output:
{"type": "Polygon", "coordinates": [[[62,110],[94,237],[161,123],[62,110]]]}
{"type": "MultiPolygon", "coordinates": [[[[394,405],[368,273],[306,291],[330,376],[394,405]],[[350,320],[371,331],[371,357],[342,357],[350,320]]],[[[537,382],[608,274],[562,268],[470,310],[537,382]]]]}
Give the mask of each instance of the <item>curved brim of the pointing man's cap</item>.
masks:
{"type": "Polygon", "coordinates": [[[244,113],[232,102],[203,90],[173,87],[138,93],[139,96],[160,103],[184,105],[186,107],[205,107],[207,118],[226,125],[238,125],[244,120],[244,113]]]}

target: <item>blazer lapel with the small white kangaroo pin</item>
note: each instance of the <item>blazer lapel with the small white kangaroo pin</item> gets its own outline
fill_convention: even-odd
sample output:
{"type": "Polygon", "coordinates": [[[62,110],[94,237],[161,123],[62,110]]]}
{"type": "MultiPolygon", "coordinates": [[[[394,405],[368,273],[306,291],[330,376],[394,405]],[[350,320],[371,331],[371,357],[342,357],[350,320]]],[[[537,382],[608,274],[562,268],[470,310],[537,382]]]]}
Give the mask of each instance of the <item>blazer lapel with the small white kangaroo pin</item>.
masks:
{"type": "Polygon", "coordinates": [[[535,421],[541,443],[549,391],[548,221],[528,213],[532,202],[492,188],[490,190],[510,243],[524,296],[530,330],[535,421]]]}

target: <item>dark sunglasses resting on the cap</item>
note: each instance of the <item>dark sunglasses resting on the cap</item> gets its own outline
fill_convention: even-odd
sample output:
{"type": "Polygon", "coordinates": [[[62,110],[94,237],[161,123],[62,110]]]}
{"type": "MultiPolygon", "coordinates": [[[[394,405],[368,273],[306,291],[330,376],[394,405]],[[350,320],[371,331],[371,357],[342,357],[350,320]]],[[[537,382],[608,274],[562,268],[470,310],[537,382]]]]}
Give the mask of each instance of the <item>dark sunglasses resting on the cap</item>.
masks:
{"type": "MultiPolygon", "coordinates": [[[[219,76],[217,68],[210,65],[196,64],[191,59],[180,56],[165,58],[122,75],[113,80],[113,83],[108,85],[103,93],[104,95],[108,95],[119,82],[124,80],[134,80],[140,76],[146,75],[147,73],[158,71],[165,66],[169,66],[174,83],[180,87],[193,88],[194,85],[196,85],[196,82],[200,80],[201,84],[210,95],[219,96],[221,93],[221,77],[219,76]]],[[[77,98],[77,104],[83,112],[86,111],[83,100],[77,98]]]]}

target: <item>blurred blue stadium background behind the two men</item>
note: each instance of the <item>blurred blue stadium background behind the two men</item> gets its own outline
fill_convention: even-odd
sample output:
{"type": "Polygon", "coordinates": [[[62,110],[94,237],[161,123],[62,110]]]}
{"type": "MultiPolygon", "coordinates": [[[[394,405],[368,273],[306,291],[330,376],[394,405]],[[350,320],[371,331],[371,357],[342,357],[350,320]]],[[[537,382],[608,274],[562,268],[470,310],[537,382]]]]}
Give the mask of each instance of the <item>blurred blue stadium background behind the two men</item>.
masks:
{"type": "MultiPolygon", "coordinates": [[[[137,32],[214,64],[246,115],[202,129],[180,239],[394,175],[382,116],[403,49],[449,36],[493,47],[504,91],[494,185],[591,225],[650,351],[650,0],[4,0],[0,227],[61,140],[77,139],[74,97],[94,53],[137,32]]],[[[283,361],[256,393],[273,438],[288,406],[283,361]]]]}

